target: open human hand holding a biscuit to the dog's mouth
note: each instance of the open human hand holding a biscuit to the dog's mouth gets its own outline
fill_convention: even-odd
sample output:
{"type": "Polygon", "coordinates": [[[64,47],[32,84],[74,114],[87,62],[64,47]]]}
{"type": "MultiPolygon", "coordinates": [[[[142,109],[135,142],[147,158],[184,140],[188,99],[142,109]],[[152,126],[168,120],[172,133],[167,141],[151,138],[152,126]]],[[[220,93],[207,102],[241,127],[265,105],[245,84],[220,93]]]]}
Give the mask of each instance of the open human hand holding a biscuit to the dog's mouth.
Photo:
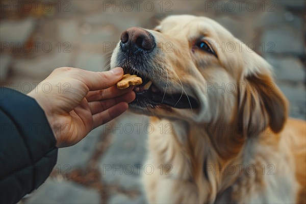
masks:
{"type": "Polygon", "coordinates": [[[44,110],[56,146],[66,147],[78,143],[95,127],[129,108],[128,103],[135,99],[134,87],[119,90],[114,86],[122,77],[120,67],[105,72],[61,67],[28,95],[44,110]]]}

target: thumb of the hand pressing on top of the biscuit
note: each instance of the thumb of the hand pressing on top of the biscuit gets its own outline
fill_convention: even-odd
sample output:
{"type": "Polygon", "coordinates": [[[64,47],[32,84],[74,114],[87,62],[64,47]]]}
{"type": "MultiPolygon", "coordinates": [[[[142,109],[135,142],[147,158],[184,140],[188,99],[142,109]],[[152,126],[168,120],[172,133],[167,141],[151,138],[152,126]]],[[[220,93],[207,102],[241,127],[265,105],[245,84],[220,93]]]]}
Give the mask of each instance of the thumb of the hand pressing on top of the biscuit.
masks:
{"type": "Polygon", "coordinates": [[[113,68],[110,71],[94,72],[86,71],[82,77],[90,91],[107,89],[114,86],[123,78],[123,69],[121,67],[113,68]]]}

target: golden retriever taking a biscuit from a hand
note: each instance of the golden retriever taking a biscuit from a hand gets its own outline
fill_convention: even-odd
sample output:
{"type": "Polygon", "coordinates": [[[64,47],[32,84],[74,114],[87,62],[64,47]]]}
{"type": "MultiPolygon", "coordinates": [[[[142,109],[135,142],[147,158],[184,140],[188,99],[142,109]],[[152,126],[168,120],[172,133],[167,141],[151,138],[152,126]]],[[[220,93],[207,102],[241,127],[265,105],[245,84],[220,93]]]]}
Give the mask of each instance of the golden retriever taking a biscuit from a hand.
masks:
{"type": "Polygon", "coordinates": [[[127,29],[117,66],[142,78],[130,109],[156,127],[148,202],[306,202],[306,123],[288,118],[270,65],[220,24],[177,15],[127,29]]]}

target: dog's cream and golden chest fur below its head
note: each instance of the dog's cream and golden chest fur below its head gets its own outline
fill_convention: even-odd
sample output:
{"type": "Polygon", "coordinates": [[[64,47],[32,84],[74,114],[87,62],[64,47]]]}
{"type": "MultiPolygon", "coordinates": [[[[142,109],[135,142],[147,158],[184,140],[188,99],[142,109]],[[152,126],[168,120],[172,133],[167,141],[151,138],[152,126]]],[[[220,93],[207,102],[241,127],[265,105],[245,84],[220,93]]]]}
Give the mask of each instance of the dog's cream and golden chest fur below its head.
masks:
{"type": "Polygon", "coordinates": [[[249,139],[239,155],[224,161],[199,126],[157,118],[150,122],[171,129],[148,135],[147,164],[155,168],[144,174],[149,202],[296,202],[299,184],[290,133],[249,139]]]}

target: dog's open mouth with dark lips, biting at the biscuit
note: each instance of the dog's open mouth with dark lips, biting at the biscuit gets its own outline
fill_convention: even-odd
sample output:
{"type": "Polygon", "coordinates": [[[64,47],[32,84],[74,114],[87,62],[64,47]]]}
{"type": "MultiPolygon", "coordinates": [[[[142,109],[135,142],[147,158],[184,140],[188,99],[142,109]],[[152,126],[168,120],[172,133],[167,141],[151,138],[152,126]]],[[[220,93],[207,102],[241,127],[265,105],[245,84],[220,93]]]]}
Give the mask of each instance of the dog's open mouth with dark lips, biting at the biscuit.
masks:
{"type": "Polygon", "coordinates": [[[167,94],[166,91],[160,90],[155,82],[148,77],[143,76],[137,71],[131,71],[131,69],[123,68],[123,70],[124,74],[136,74],[142,79],[142,84],[134,88],[136,99],[131,103],[132,106],[145,108],[148,106],[167,105],[179,109],[196,109],[199,107],[198,101],[184,92],[167,94]]]}

